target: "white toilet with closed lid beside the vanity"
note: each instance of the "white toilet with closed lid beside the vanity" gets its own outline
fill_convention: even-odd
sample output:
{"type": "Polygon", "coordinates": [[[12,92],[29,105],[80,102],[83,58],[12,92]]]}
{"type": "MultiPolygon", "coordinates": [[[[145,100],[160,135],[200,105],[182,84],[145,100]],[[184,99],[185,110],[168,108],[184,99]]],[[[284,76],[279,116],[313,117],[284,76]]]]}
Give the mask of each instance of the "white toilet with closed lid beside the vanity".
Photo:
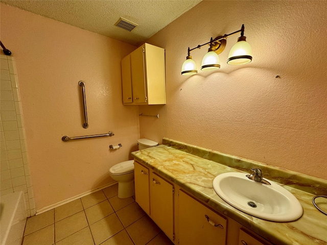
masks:
{"type": "MultiPolygon", "coordinates": [[[[158,145],[150,139],[138,139],[138,150],[158,145]]],[[[118,197],[129,198],[134,195],[134,160],[120,162],[109,169],[112,179],[118,181],[118,197]]]]}

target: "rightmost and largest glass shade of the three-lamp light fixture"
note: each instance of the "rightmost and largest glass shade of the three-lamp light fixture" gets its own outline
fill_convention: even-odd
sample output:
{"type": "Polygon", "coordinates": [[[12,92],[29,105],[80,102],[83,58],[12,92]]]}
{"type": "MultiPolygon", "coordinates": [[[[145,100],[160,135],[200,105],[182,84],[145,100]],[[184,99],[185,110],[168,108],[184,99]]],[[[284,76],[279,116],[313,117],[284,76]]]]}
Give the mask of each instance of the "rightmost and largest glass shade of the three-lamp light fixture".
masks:
{"type": "Polygon", "coordinates": [[[239,40],[232,46],[231,50],[229,51],[227,64],[244,65],[251,62],[252,48],[250,44],[245,41],[245,37],[243,37],[242,39],[243,40],[239,40]]]}

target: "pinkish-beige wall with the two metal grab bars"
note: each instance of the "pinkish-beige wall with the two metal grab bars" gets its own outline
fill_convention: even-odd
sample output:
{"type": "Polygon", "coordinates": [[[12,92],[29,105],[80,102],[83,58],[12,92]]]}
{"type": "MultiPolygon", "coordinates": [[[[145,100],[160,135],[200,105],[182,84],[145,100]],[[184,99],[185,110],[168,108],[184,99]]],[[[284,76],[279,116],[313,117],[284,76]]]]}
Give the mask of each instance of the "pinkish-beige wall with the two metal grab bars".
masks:
{"type": "Polygon", "coordinates": [[[135,47],[3,4],[1,41],[16,59],[36,210],[112,182],[109,168],[131,159],[139,137],[138,108],[122,104],[120,68],[135,47]],[[109,130],[113,137],[61,140],[109,130]]]}

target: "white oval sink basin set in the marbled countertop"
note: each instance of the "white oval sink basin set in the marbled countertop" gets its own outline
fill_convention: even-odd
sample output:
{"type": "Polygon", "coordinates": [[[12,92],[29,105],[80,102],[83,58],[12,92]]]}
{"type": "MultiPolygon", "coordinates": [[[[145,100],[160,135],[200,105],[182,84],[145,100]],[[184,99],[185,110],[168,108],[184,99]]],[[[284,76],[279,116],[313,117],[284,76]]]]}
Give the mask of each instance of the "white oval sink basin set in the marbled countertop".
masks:
{"type": "Polygon", "coordinates": [[[213,187],[226,203],[252,216],[276,222],[301,217],[303,209],[294,195],[267,181],[271,185],[250,180],[246,173],[224,173],[214,179],[213,187]]]}

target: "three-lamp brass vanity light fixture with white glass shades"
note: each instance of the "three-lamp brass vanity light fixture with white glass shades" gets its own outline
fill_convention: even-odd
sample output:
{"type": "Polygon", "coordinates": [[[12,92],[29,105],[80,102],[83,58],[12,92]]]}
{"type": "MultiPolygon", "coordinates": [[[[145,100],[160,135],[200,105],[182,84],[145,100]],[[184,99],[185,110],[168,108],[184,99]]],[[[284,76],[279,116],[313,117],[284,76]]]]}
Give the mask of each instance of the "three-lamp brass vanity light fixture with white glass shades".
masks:
{"type": "Polygon", "coordinates": [[[235,43],[228,55],[227,64],[229,65],[243,65],[251,62],[252,60],[252,50],[248,42],[246,42],[246,37],[244,36],[244,24],[242,24],[241,30],[236,32],[225,34],[224,36],[218,36],[216,38],[211,38],[209,42],[198,45],[192,49],[188,48],[188,56],[182,65],[182,75],[194,75],[198,73],[196,68],[196,63],[192,60],[191,51],[196,48],[201,48],[204,45],[209,44],[208,53],[202,59],[201,70],[217,70],[220,68],[219,54],[224,51],[226,47],[226,39],[228,36],[241,32],[241,36],[238,38],[237,43],[235,43]]]}

